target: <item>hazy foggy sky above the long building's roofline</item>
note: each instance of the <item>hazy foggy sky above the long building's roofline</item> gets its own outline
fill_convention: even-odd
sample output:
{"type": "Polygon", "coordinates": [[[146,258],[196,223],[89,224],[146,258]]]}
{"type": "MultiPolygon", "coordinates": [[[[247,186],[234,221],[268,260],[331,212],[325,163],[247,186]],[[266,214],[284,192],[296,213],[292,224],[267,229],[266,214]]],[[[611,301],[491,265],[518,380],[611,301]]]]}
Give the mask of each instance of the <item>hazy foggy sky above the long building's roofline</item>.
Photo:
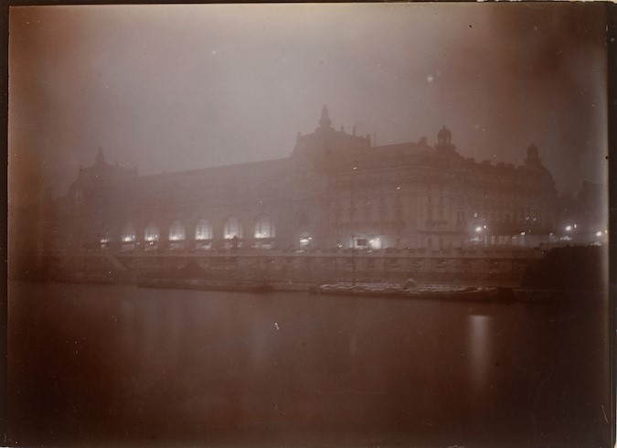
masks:
{"type": "Polygon", "coordinates": [[[606,19],[590,4],[11,7],[9,197],[66,193],[102,147],[140,174],[288,156],[328,105],[378,144],[605,182],[606,19]]]}

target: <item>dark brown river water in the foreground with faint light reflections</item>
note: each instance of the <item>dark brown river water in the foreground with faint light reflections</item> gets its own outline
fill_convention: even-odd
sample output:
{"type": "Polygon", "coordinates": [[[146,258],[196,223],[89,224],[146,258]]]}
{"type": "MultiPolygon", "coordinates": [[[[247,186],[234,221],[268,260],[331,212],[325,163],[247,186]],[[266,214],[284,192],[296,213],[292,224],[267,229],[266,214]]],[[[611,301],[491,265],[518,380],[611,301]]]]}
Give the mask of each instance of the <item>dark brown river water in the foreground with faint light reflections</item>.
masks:
{"type": "Polygon", "coordinates": [[[611,445],[608,304],[9,289],[9,446],[611,445]]]}

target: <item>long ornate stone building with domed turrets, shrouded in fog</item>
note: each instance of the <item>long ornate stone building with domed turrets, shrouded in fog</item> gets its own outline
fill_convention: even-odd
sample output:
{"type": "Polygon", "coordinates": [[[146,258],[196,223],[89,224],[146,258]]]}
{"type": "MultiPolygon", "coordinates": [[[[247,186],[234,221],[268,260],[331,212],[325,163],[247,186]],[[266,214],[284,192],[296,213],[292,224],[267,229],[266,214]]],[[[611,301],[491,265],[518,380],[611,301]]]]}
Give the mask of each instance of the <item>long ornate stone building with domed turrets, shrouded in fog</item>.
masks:
{"type": "Polygon", "coordinates": [[[447,249],[548,235],[557,192],[533,144],[524,164],[476,163],[437,143],[374,146],[319,126],[288,158],[155,176],[101,150],[56,204],[57,248],[447,249]]]}

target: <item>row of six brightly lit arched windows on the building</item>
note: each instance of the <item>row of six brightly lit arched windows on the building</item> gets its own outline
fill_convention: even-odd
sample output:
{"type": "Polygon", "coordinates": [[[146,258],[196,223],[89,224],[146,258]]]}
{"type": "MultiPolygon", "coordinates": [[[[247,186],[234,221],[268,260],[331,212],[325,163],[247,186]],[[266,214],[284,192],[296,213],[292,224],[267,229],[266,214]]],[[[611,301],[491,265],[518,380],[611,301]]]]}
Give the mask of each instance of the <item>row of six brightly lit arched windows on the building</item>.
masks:
{"type": "MultiPolygon", "coordinates": [[[[253,229],[253,238],[255,239],[270,239],[276,237],[276,231],[272,220],[267,215],[261,215],[255,222],[253,229]]],[[[201,219],[195,226],[195,240],[212,240],[212,226],[207,219],[201,219]]],[[[233,240],[234,238],[241,239],[243,237],[242,224],[236,217],[229,217],[223,225],[223,238],[225,240],[233,240]]],[[[122,228],[122,241],[133,242],[137,238],[133,223],[128,222],[122,228]]],[[[144,230],[144,240],[158,241],[161,238],[161,232],[158,225],[150,222],[144,230]]],[[[169,226],[168,238],[171,241],[186,240],[186,228],[179,220],[172,222],[169,226]]]]}

